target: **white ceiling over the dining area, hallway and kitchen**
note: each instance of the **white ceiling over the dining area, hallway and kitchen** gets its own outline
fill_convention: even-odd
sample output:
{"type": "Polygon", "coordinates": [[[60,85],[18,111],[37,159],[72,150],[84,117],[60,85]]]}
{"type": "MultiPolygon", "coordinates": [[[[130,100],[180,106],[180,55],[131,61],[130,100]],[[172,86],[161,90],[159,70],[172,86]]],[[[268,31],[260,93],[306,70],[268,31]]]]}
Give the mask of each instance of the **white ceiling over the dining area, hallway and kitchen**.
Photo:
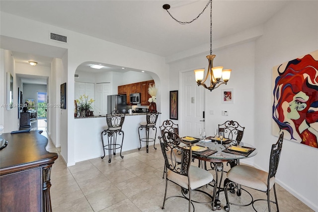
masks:
{"type": "MultiPolygon", "coordinates": [[[[213,40],[263,24],[288,1],[214,0],[213,40]]],[[[176,19],[191,21],[208,0],[1,0],[0,11],[162,57],[205,44],[210,50],[210,8],[194,22],[181,25],[162,8],[165,3],[176,19]]],[[[51,66],[53,58],[40,55],[13,52],[16,62],[34,60],[51,66]]],[[[92,70],[87,64],[79,69],[92,70]]]]}

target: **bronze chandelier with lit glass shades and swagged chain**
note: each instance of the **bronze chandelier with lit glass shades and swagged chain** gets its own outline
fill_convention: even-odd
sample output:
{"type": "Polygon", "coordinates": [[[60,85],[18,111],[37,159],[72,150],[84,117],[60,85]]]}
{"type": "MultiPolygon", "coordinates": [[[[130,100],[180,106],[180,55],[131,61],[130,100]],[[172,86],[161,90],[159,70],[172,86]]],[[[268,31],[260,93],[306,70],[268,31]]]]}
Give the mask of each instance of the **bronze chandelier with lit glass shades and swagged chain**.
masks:
{"type": "Polygon", "coordinates": [[[164,4],[162,7],[165,9],[169,15],[178,23],[180,24],[187,24],[192,23],[194,20],[198,19],[198,17],[204,12],[204,10],[209,6],[210,4],[210,55],[207,56],[207,59],[209,61],[209,66],[207,70],[207,75],[204,77],[204,69],[197,69],[194,70],[195,73],[195,80],[197,81],[198,86],[203,86],[206,89],[209,89],[210,91],[218,88],[222,84],[227,84],[230,76],[231,76],[231,69],[223,69],[222,66],[213,67],[213,59],[216,57],[214,54],[212,54],[212,0],[209,0],[205,8],[202,10],[202,12],[193,20],[189,22],[183,22],[179,21],[176,18],[174,18],[171,13],[168,11],[170,8],[169,4],[164,4]],[[207,81],[209,78],[209,81],[207,81]],[[223,79],[223,81],[221,80],[223,79]],[[207,85],[205,84],[207,82],[207,85]]]}

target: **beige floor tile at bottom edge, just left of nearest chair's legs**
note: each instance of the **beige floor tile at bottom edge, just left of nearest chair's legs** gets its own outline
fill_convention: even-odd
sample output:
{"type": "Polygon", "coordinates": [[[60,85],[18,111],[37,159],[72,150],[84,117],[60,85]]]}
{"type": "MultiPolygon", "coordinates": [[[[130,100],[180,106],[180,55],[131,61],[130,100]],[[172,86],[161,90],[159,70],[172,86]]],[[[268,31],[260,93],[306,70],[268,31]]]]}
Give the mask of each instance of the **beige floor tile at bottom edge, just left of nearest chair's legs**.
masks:
{"type": "Polygon", "coordinates": [[[129,199],[143,212],[153,212],[162,207],[163,194],[155,188],[149,188],[129,199]]]}

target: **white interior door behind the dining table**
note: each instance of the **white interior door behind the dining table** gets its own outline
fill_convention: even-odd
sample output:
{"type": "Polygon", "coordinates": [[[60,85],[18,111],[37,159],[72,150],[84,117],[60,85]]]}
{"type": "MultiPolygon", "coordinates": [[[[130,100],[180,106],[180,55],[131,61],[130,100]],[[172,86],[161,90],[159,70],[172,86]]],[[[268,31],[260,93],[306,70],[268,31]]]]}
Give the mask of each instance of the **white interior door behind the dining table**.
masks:
{"type": "Polygon", "coordinates": [[[205,89],[197,85],[193,71],[182,73],[181,79],[180,136],[198,136],[199,129],[205,127],[203,117],[205,89]]]}

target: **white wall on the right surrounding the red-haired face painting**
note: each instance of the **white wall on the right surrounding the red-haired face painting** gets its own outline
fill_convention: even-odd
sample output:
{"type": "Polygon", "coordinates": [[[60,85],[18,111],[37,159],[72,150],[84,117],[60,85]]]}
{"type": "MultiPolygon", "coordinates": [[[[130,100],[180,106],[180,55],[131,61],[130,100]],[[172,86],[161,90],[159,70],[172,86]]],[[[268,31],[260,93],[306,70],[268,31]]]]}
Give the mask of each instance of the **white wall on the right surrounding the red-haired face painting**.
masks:
{"type": "MultiPolygon", "coordinates": [[[[292,1],[264,25],[255,50],[255,163],[268,169],[278,138],[271,134],[272,68],[318,49],[318,1],[292,1]]],[[[318,149],[284,140],[277,172],[280,185],[318,211],[318,149]]]]}

